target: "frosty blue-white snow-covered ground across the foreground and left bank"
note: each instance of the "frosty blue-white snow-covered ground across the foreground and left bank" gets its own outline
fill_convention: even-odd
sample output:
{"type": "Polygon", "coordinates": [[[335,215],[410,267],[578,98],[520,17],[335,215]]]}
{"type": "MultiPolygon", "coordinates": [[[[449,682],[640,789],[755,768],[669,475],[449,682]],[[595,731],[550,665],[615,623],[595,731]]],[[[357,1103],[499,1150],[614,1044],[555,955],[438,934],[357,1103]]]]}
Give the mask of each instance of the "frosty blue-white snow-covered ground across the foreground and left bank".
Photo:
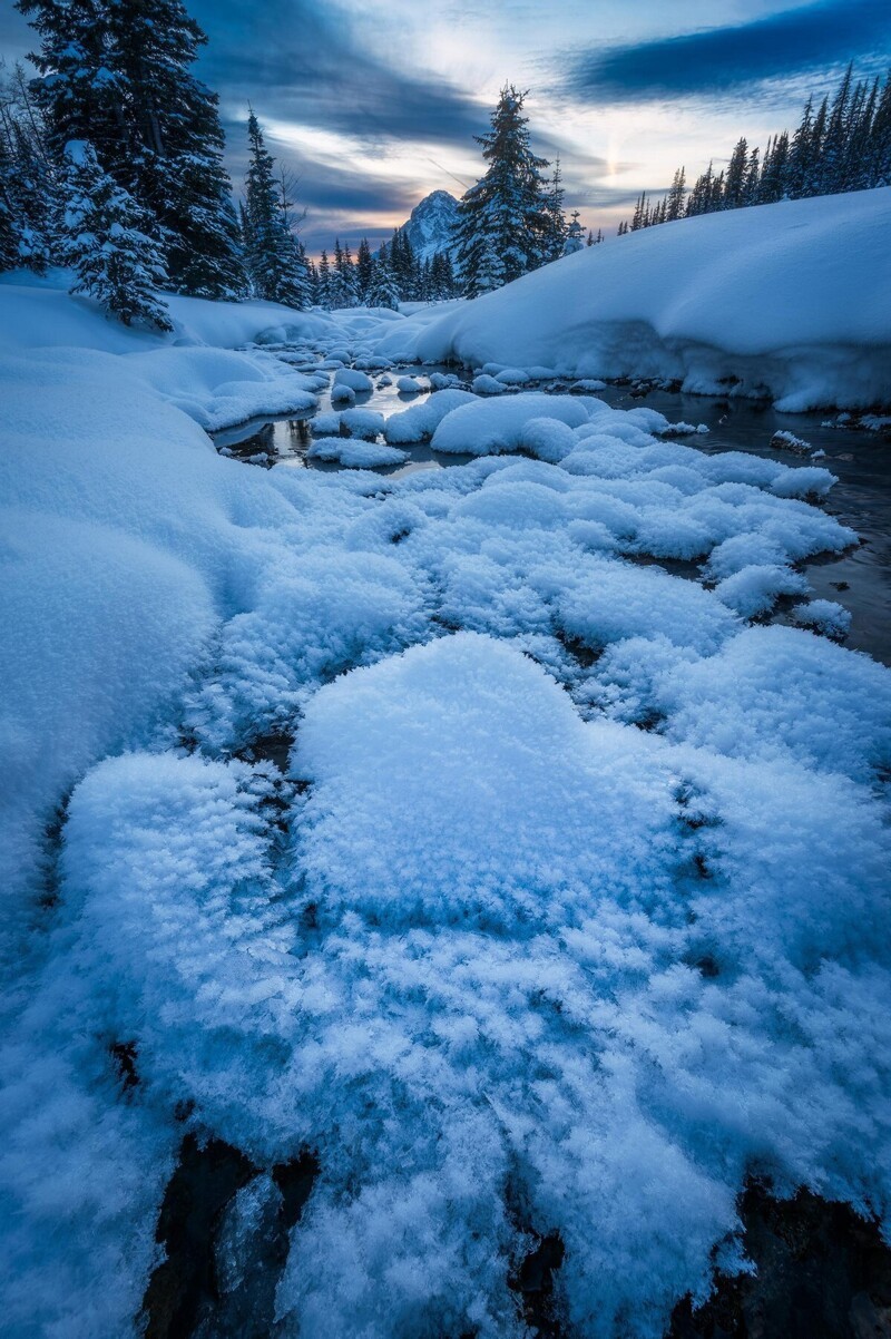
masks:
{"type": "Polygon", "coordinates": [[[223,1293],[316,1152],[301,1339],[519,1336],[554,1232],[567,1322],[656,1339],[741,1267],[747,1174],[886,1213],[891,674],[751,621],[854,542],[832,475],[454,387],[385,437],[468,465],[254,470],[205,427],[415,317],[171,305],[153,339],[0,285],[5,1332],[135,1332],[187,1131],[260,1169],[223,1293]]]}

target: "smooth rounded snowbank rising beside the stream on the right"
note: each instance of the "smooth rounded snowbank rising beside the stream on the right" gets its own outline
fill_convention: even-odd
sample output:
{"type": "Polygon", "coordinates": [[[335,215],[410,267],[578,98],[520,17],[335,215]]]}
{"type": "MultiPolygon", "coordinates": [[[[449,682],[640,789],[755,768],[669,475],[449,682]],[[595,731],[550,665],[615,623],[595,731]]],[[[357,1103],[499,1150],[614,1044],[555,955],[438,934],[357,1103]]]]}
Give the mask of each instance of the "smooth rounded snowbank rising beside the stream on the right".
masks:
{"type": "Polygon", "coordinates": [[[657,376],[780,408],[891,403],[891,187],[686,218],[395,329],[399,356],[657,376]]]}

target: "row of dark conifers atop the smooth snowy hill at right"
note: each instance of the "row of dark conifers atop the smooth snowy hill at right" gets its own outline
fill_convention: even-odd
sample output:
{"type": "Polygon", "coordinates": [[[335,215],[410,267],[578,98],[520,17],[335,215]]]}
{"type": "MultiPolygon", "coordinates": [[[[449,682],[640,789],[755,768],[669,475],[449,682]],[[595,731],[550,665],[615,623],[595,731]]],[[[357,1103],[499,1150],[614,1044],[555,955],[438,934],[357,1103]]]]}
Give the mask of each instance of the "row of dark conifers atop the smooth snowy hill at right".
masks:
{"type": "Polygon", "coordinates": [[[854,66],[848,66],[835,96],[829,100],[827,94],[816,111],[809,96],[795,134],[789,137],[784,130],[773,135],[764,158],[757,146],[749,149],[741,138],[726,170],[716,173],[709,163],[692,190],[680,167],[661,200],[639,195],[634,216],[630,222],[623,220],[618,232],[622,236],[721,209],[887,185],[891,185],[891,70],[884,84],[878,76],[855,83],[854,66]]]}

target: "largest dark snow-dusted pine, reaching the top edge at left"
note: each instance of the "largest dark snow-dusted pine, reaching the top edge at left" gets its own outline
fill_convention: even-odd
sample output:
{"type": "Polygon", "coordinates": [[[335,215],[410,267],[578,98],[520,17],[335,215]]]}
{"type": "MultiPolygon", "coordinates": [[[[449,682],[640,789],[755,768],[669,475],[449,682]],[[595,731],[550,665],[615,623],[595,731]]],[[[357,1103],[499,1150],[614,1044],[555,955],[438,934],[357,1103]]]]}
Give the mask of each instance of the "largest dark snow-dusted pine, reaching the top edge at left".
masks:
{"type": "Polygon", "coordinates": [[[191,74],[206,40],[181,0],[19,0],[40,36],[35,82],[56,154],[90,141],[148,212],[170,283],[238,297],[245,273],[217,96],[191,74]]]}

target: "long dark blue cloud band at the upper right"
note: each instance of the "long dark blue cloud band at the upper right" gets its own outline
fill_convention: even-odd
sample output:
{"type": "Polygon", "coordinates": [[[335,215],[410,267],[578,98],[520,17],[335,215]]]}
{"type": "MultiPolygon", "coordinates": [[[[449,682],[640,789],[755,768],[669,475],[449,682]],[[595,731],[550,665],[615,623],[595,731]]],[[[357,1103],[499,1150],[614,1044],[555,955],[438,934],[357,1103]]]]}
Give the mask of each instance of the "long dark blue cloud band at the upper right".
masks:
{"type": "Polygon", "coordinates": [[[882,51],[891,51],[888,0],[817,0],[752,23],[589,51],[567,83],[579,96],[637,102],[724,91],[882,51]]]}

